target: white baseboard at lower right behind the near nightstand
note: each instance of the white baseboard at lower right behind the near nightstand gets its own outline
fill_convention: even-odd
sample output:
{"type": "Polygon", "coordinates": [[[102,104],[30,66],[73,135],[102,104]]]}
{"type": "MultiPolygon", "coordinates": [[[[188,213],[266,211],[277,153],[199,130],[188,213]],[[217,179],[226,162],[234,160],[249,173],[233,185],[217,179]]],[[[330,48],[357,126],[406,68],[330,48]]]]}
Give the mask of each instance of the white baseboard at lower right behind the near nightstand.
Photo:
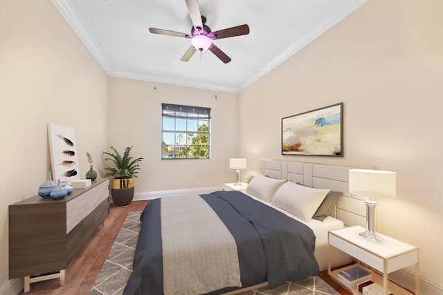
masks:
{"type": "MultiPolygon", "coordinates": [[[[410,269],[405,268],[397,272],[392,272],[392,274],[389,274],[389,279],[401,285],[401,287],[415,292],[415,272],[410,269]]],[[[442,295],[443,286],[420,276],[420,294],[442,295]]]]}

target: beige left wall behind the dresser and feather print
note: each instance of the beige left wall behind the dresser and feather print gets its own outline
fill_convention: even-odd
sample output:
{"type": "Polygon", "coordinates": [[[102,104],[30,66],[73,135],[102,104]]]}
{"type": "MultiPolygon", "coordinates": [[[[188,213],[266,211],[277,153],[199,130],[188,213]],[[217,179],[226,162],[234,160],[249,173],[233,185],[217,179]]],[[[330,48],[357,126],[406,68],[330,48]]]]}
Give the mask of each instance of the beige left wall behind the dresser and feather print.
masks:
{"type": "Polygon", "coordinates": [[[75,129],[82,177],[86,151],[100,165],[107,76],[50,1],[1,0],[0,40],[1,293],[8,283],[8,205],[36,195],[51,169],[46,124],[75,129]]]}

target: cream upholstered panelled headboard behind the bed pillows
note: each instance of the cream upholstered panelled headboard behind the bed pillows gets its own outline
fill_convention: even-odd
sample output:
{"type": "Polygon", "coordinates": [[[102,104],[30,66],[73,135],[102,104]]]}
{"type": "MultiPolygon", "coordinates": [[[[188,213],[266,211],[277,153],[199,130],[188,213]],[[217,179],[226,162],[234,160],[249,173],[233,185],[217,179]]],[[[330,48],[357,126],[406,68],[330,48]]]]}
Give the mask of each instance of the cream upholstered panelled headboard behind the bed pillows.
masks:
{"type": "Polygon", "coordinates": [[[336,210],[331,216],[342,220],[346,226],[366,226],[366,207],[364,199],[349,192],[349,169],[376,169],[369,165],[334,165],[320,163],[285,162],[261,159],[260,173],[272,178],[300,182],[318,189],[343,191],[336,210]]]}

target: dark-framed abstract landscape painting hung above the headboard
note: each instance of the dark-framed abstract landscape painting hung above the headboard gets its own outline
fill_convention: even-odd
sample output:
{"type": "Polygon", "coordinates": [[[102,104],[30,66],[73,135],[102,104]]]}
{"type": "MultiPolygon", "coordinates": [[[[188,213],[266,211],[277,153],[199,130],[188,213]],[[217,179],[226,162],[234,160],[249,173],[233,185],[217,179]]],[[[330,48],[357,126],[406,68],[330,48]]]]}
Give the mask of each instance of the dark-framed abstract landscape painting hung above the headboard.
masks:
{"type": "Polygon", "coordinates": [[[282,118],[282,155],[343,157],[343,102],[282,118]]]}

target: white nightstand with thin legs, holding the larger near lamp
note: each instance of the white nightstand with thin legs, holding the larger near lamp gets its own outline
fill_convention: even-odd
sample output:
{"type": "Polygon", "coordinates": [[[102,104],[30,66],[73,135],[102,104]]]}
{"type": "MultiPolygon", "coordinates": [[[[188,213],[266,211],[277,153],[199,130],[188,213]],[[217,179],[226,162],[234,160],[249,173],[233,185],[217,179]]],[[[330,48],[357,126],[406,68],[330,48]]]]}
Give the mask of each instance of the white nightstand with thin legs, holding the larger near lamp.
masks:
{"type": "Polygon", "coordinates": [[[388,290],[395,295],[411,294],[399,285],[388,281],[388,274],[415,264],[415,294],[419,294],[419,248],[378,233],[385,242],[381,244],[370,242],[359,236],[359,233],[363,231],[365,231],[365,228],[359,226],[329,231],[329,260],[327,266],[329,276],[353,294],[361,294],[357,287],[349,287],[338,277],[338,272],[354,267],[354,265],[331,271],[331,247],[336,247],[354,257],[356,264],[360,264],[361,261],[372,269],[377,269],[382,275],[377,274],[372,269],[368,270],[372,272],[372,281],[383,286],[383,293],[385,295],[388,294],[388,290]]]}

